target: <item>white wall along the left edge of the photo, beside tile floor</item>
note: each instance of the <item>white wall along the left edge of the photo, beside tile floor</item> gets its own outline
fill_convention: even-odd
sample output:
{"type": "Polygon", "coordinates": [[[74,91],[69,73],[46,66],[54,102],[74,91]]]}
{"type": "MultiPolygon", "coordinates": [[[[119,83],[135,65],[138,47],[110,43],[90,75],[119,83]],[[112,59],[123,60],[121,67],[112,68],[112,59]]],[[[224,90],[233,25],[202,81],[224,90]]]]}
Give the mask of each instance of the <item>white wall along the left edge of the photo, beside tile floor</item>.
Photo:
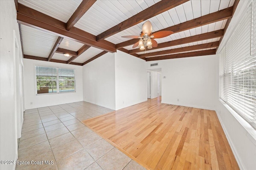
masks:
{"type": "MultiPolygon", "coordinates": [[[[16,8],[13,0],[0,1],[0,158],[17,159],[17,112],[22,112],[22,92],[19,84],[19,64],[22,63],[22,50],[16,8]],[[14,32],[18,49],[15,50],[14,32]],[[14,57],[16,56],[16,57],[14,57]],[[16,104],[20,104],[16,107],[16,104]]],[[[22,113],[20,113],[22,123],[22,113]]],[[[0,169],[13,170],[15,164],[0,164],[0,169]]]]}

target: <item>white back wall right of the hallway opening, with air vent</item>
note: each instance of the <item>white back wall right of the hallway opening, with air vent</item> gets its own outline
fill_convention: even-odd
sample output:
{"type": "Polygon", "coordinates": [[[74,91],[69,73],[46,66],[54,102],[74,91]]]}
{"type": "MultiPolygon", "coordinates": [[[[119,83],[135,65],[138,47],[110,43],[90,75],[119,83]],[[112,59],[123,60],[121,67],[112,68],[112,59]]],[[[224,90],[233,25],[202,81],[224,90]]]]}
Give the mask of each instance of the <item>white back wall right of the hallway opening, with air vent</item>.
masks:
{"type": "Polygon", "coordinates": [[[146,62],[147,69],[162,68],[162,103],[215,110],[215,58],[207,55],[146,62]],[[158,66],[150,66],[152,63],[158,66]]]}

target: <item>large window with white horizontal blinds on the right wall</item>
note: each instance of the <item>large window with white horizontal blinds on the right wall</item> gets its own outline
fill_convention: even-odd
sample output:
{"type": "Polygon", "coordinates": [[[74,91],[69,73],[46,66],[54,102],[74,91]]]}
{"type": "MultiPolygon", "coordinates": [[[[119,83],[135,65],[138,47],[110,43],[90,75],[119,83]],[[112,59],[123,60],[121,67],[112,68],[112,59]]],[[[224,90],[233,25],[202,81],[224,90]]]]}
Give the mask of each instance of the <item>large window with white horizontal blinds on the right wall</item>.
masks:
{"type": "Polygon", "coordinates": [[[255,3],[220,52],[219,96],[256,129],[255,3]]]}

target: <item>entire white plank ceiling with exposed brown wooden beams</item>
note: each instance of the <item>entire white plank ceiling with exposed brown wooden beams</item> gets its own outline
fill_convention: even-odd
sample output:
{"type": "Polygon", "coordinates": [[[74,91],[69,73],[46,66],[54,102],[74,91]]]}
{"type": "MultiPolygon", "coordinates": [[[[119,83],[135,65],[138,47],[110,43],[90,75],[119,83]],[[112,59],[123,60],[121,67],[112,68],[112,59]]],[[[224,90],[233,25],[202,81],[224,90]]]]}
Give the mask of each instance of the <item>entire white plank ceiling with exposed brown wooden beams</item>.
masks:
{"type": "Polygon", "coordinates": [[[107,52],[146,61],[216,54],[239,0],[14,0],[24,58],[84,65],[107,52]],[[142,24],[158,47],[132,49],[142,24]],[[65,57],[64,54],[69,54],[65,57]]]}

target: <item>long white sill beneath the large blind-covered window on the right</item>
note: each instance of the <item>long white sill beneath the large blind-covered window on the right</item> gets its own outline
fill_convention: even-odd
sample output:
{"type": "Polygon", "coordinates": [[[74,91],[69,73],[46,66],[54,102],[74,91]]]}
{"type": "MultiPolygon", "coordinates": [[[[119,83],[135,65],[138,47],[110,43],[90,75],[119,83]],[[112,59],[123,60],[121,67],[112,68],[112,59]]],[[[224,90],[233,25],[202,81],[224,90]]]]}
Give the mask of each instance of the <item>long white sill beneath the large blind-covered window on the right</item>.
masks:
{"type": "Polygon", "coordinates": [[[235,119],[244,127],[247,131],[246,136],[256,146],[256,130],[244,120],[236,111],[234,111],[228,104],[219,98],[219,101],[228,109],[228,111],[235,117],[235,119]]]}

